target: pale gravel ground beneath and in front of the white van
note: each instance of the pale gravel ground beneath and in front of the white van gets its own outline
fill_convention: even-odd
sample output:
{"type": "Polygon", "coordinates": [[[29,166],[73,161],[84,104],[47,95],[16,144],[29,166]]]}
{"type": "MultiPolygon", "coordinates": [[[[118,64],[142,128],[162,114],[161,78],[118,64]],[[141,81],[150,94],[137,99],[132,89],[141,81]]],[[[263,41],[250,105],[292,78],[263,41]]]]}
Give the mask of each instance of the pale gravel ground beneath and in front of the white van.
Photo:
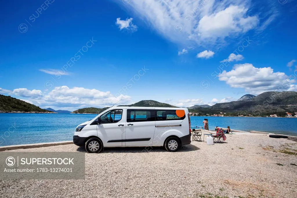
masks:
{"type": "MultiPolygon", "coordinates": [[[[0,180],[0,197],[297,197],[297,142],[257,133],[226,142],[175,153],[105,148],[85,154],[85,180],[0,180]]],[[[85,152],[74,144],[14,151],[85,152]]]]}

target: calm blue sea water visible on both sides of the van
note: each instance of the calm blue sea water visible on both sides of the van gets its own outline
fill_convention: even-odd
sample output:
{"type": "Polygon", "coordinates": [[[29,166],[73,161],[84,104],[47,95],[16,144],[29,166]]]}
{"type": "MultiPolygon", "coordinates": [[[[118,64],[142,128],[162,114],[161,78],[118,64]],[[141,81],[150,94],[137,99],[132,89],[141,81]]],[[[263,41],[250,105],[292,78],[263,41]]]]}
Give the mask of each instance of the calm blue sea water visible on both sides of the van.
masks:
{"type": "MultiPolygon", "coordinates": [[[[72,140],[75,127],[95,114],[13,114],[0,113],[0,146],[72,140]]],[[[191,117],[192,128],[215,126],[242,131],[266,131],[297,135],[296,118],[191,117]]]]}

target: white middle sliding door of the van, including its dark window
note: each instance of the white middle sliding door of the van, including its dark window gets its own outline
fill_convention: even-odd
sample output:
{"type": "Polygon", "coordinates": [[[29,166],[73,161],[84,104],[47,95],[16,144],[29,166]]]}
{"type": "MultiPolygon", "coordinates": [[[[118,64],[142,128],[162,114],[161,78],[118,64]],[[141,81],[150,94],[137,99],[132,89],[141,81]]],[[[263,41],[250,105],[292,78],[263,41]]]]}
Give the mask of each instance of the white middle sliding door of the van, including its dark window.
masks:
{"type": "Polygon", "coordinates": [[[152,145],[155,132],[155,110],[127,109],[126,146],[152,145]]]}

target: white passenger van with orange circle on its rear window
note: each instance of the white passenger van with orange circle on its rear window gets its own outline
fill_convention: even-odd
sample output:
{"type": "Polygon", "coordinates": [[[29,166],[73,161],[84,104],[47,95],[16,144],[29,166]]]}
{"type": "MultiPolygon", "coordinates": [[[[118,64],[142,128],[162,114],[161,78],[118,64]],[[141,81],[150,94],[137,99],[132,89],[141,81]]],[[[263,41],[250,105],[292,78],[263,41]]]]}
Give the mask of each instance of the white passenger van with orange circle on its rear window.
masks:
{"type": "Polygon", "coordinates": [[[103,147],[164,146],[170,152],[191,143],[187,108],[111,107],[75,129],[73,143],[88,153],[103,147]]]}

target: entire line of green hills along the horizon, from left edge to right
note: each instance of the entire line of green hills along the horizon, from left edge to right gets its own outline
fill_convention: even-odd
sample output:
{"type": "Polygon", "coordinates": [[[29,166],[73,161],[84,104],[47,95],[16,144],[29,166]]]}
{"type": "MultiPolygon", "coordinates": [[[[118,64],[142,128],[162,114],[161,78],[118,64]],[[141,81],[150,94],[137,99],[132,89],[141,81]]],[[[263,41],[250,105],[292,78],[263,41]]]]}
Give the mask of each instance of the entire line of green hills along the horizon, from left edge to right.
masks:
{"type": "MultiPolygon", "coordinates": [[[[140,107],[176,107],[167,103],[160,103],[155,100],[141,100],[138,103],[121,106],[140,106],[140,107]]],[[[105,108],[83,108],[75,110],[74,114],[99,114],[105,111],[105,108]]],[[[285,112],[297,112],[297,92],[264,92],[260,95],[244,95],[237,101],[228,103],[217,103],[213,106],[194,105],[188,107],[189,111],[199,113],[199,115],[220,114],[236,116],[238,114],[252,114],[253,116],[266,116],[277,114],[284,116],[285,112]]],[[[27,103],[23,100],[12,98],[10,96],[0,95],[0,113],[1,112],[34,112],[34,113],[70,113],[65,110],[54,110],[51,108],[41,109],[38,106],[27,103]]]]}

